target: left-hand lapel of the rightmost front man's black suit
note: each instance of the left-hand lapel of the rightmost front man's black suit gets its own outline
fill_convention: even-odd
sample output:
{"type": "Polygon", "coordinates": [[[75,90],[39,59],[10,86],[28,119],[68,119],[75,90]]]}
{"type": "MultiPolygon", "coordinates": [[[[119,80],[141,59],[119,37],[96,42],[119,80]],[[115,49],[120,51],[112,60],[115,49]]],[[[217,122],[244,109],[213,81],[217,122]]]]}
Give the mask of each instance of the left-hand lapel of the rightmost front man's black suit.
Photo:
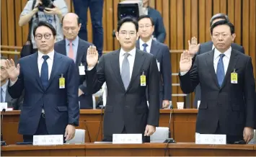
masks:
{"type": "Polygon", "coordinates": [[[216,84],[216,86],[219,87],[218,79],[217,79],[216,72],[215,72],[214,66],[213,66],[213,57],[214,57],[214,49],[211,50],[210,52],[208,52],[208,56],[206,57],[206,64],[208,66],[208,70],[211,73],[211,78],[213,78],[214,84],[216,84]]]}

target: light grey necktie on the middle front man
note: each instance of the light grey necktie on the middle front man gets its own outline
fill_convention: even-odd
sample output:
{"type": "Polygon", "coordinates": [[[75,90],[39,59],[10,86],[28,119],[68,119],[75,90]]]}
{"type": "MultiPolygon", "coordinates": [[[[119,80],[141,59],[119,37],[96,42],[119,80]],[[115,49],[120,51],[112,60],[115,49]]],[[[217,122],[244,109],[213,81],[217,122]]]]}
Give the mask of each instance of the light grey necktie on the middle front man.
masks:
{"type": "Polygon", "coordinates": [[[121,77],[123,80],[123,85],[125,86],[125,90],[128,88],[130,84],[130,63],[128,61],[129,53],[125,53],[125,58],[123,58],[121,77]]]}

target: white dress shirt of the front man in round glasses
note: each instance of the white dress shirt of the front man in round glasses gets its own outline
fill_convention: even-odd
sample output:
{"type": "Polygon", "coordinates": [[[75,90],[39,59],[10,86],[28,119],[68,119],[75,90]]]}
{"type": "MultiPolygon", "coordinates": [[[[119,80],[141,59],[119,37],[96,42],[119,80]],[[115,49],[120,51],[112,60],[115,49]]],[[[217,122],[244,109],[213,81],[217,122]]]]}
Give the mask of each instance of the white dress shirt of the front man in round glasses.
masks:
{"type": "MultiPolygon", "coordinates": [[[[39,76],[41,76],[41,68],[43,65],[43,53],[40,53],[38,50],[38,57],[37,57],[37,65],[38,65],[38,71],[39,71],[39,76]]],[[[54,58],[54,50],[50,53],[47,54],[49,56],[48,60],[46,60],[48,64],[48,79],[50,79],[50,73],[53,68],[53,58],[54,58]]]]}

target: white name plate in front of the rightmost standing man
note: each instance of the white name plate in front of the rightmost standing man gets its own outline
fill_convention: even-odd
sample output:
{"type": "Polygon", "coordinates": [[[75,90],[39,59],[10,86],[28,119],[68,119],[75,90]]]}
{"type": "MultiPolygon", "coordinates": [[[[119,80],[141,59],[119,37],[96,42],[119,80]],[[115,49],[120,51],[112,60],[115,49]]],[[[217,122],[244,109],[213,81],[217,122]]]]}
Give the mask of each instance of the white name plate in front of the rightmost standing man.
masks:
{"type": "Polygon", "coordinates": [[[226,145],[226,135],[195,133],[195,144],[226,145]]]}

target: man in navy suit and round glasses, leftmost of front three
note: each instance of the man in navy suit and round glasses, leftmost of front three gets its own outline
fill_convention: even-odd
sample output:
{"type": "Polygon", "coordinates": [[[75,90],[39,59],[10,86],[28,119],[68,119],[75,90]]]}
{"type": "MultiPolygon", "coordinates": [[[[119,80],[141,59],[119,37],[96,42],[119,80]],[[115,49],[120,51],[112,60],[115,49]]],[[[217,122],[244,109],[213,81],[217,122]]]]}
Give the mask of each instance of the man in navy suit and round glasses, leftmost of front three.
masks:
{"type": "Polygon", "coordinates": [[[56,30],[51,24],[39,22],[33,34],[37,53],[21,58],[17,67],[6,60],[9,94],[18,98],[25,89],[19,134],[25,142],[32,142],[33,135],[64,135],[71,140],[79,125],[76,65],[54,51],[56,30]]]}

